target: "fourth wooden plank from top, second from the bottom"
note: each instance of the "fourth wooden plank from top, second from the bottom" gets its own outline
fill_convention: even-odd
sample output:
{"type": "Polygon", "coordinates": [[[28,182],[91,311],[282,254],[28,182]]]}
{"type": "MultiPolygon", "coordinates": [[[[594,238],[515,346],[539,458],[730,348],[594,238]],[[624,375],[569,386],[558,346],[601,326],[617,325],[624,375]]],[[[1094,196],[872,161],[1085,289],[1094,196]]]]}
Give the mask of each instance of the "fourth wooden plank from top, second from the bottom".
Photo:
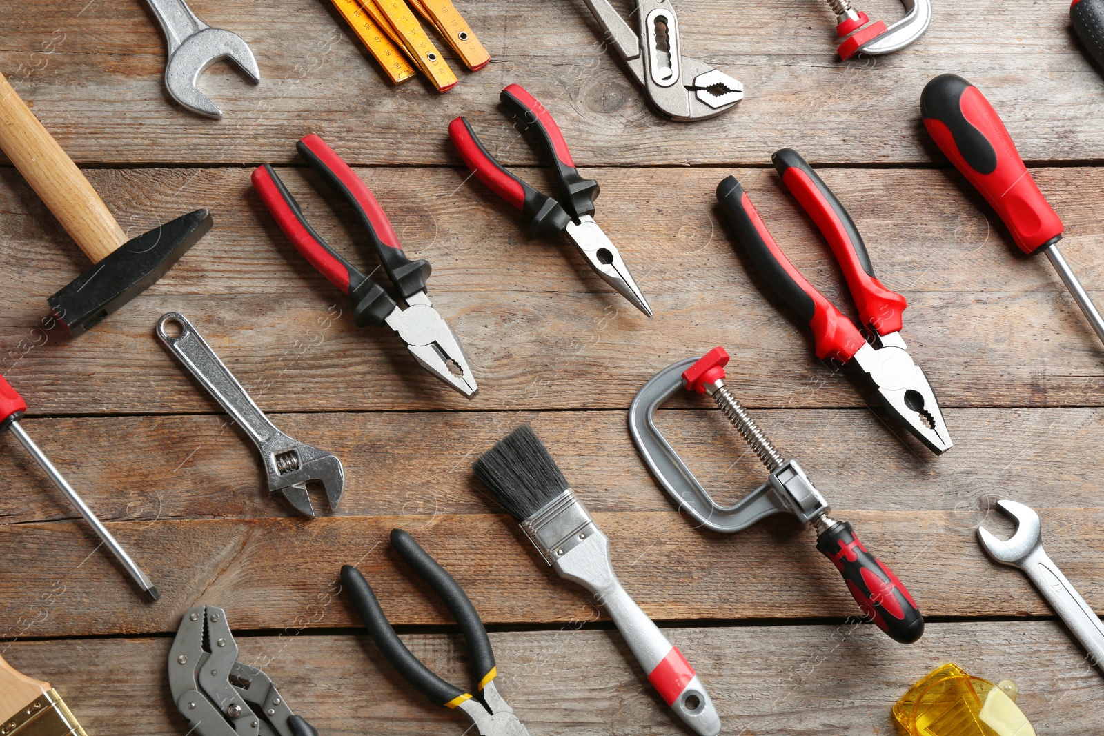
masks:
{"type": "MultiPolygon", "coordinates": [[[[587,494],[584,498],[590,498],[587,494]]],[[[1051,556],[1096,610],[1104,575],[1096,553],[1104,509],[1039,509],[1051,556]]],[[[852,511],[868,547],[904,580],[926,616],[1043,616],[1049,609],[1023,575],[997,568],[975,527],[1004,520],[979,511],[852,511]],[[966,593],[968,591],[968,594],[966,593]]],[[[668,512],[604,512],[626,589],[658,620],[843,619],[858,608],[815,535],[774,518],[739,535],[699,531],[668,512]]],[[[76,523],[14,524],[2,530],[0,565],[21,570],[0,582],[20,618],[0,637],[152,633],[176,628],[198,602],[242,609],[256,629],[342,627],[354,614],[332,597],[341,564],[357,564],[395,623],[447,622],[400,572],[386,535],[410,530],[468,589],[489,623],[559,623],[598,617],[582,588],[555,577],[506,516],[423,514],[317,519],[158,521],[110,525],[158,585],[157,604],[140,602],[130,582],[87,529],[76,523]],[[35,580],[28,585],[26,580],[35,580]],[[46,597],[51,602],[44,602],[46,597]]]]}

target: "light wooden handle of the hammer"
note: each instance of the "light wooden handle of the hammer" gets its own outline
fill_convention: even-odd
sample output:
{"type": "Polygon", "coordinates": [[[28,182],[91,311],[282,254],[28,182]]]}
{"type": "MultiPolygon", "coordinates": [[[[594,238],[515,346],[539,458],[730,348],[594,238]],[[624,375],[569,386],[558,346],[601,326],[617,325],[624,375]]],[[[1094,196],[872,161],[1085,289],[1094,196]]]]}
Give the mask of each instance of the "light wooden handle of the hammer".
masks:
{"type": "Polygon", "coordinates": [[[3,74],[0,74],[0,148],[92,263],[99,263],[127,242],[92,183],[3,74]]]}

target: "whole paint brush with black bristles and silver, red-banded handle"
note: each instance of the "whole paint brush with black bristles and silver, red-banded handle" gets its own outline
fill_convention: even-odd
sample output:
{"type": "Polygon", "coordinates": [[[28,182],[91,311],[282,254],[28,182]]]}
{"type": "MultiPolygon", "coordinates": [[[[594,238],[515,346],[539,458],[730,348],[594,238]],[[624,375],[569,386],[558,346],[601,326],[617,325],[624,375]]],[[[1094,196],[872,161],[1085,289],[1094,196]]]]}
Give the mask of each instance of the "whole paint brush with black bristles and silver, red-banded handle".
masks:
{"type": "Polygon", "coordinates": [[[678,648],[622,587],[609,559],[608,537],[529,425],[518,427],[480,457],[475,472],[556,574],[594,594],[664,701],[694,733],[718,736],[721,719],[705,687],[678,648]]]}

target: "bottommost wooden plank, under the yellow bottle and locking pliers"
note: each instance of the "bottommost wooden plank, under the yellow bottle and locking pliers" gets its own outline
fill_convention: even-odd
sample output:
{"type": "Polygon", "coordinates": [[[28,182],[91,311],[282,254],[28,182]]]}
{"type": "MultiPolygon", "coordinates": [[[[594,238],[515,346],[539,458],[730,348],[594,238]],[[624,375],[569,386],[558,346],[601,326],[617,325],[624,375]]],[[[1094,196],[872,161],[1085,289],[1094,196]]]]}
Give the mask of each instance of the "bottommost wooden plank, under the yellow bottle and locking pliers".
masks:
{"type": "MultiPolygon", "coordinates": [[[[227,610],[235,632],[237,610],[227,610]]],[[[954,661],[990,681],[1012,679],[1040,734],[1104,727],[1100,674],[1051,621],[935,623],[911,647],[870,627],[668,629],[710,691],[724,733],[896,733],[890,710],[911,684],[954,661]],[[1052,666],[1048,666],[1052,664],[1052,666]]],[[[616,631],[492,632],[500,692],[533,736],[686,733],[650,691],[616,631]]],[[[463,640],[403,639],[446,679],[467,683],[463,640]]],[[[367,637],[238,637],[240,660],[263,666],[296,713],[323,734],[459,734],[469,723],[408,687],[367,637]]],[[[89,734],[187,732],[164,685],[167,639],[20,642],[4,657],[49,678],[89,734]],[[96,674],[93,675],[93,672],[96,674]],[[92,675],[92,676],[89,676],[92,675]],[[119,707],[141,703],[141,707],[119,707]]]]}

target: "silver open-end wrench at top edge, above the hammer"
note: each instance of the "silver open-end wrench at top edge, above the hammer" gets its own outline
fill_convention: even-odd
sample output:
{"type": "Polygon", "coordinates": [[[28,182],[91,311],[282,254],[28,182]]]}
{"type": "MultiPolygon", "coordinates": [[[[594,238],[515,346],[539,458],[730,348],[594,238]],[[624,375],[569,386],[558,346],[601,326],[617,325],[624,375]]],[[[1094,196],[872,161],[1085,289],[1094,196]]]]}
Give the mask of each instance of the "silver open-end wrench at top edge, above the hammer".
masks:
{"type": "Polygon", "coordinates": [[[222,110],[195,86],[200,74],[215,62],[229,58],[254,84],[261,70],[242,36],[211,28],[192,12],[184,0],[147,0],[161,23],[169,44],[164,65],[164,87],[172,98],[192,113],[221,118],[222,110]]]}

